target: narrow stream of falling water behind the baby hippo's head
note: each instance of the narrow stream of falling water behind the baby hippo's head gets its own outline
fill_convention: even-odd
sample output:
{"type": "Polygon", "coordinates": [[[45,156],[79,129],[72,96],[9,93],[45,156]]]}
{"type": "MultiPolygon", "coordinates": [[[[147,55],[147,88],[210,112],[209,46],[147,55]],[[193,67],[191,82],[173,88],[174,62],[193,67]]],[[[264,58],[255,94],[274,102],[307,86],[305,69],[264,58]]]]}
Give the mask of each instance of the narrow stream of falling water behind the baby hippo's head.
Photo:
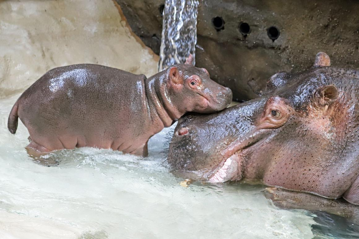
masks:
{"type": "Polygon", "coordinates": [[[195,58],[198,5],[198,0],[165,1],[159,71],[184,63],[190,54],[195,58]]]}

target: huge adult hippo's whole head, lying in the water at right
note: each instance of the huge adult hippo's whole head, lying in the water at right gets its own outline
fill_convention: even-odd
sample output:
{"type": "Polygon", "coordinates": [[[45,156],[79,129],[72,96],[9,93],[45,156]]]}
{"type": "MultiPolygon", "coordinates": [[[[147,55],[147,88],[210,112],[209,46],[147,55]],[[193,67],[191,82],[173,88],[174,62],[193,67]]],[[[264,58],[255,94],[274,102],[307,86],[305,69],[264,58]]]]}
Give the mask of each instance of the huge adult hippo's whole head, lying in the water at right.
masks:
{"type": "Polygon", "coordinates": [[[272,76],[261,98],[181,118],[169,164],[214,183],[245,178],[340,197],[359,174],[359,72],[323,56],[310,70],[272,76]]]}

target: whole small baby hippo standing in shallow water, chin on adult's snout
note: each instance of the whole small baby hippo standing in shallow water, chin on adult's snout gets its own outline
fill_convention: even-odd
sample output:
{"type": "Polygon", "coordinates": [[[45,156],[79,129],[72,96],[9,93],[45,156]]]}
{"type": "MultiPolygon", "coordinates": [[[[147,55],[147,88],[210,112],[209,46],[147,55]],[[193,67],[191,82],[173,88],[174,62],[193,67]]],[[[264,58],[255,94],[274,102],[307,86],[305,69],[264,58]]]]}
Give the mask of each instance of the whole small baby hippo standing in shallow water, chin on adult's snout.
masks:
{"type": "Polygon", "coordinates": [[[33,156],[85,146],[147,156],[149,138],[186,112],[220,111],[232,100],[192,61],[148,79],[93,64],[52,69],[17,100],[8,129],[14,134],[20,118],[33,156]]]}

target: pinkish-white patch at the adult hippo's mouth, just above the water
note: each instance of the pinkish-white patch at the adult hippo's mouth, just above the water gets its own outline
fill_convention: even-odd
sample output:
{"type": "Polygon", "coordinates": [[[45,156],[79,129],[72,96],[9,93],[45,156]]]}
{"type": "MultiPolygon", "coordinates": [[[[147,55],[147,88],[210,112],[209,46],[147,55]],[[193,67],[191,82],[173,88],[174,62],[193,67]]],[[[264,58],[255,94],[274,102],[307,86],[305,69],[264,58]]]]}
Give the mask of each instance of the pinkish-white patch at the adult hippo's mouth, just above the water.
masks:
{"type": "Polygon", "coordinates": [[[210,183],[223,183],[233,178],[238,171],[237,156],[232,155],[225,160],[222,168],[211,177],[208,182],[210,183]]]}

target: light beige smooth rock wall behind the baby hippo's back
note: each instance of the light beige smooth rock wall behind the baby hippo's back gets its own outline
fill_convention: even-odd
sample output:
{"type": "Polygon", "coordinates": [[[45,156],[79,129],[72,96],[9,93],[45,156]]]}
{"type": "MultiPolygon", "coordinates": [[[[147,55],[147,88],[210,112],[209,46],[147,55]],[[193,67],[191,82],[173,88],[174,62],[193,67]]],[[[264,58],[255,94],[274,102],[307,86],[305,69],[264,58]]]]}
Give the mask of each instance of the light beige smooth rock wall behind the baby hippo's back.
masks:
{"type": "Polygon", "coordinates": [[[0,0],[0,98],[64,65],[155,74],[158,56],[136,40],[119,10],[111,0],[0,0]]]}

